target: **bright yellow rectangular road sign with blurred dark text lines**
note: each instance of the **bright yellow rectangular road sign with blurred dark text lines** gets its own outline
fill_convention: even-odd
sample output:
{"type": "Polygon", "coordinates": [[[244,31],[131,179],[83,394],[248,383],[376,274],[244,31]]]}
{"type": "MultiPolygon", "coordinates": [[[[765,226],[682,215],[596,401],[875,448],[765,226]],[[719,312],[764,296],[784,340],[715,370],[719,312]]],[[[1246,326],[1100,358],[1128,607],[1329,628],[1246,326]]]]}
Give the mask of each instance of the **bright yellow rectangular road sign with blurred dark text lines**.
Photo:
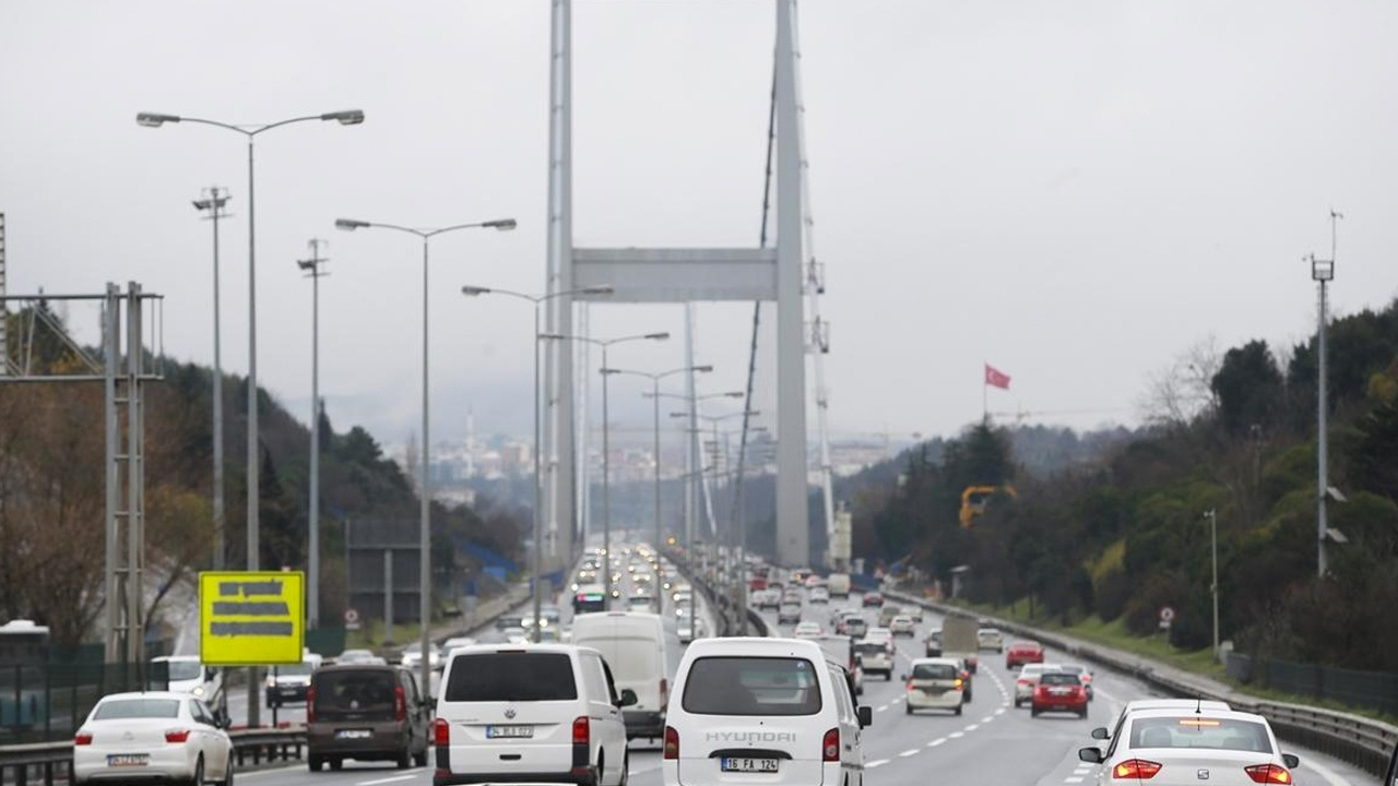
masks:
{"type": "Polygon", "coordinates": [[[210,666],[301,663],[305,582],[299,572],[200,573],[200,659],[210,666]]]}

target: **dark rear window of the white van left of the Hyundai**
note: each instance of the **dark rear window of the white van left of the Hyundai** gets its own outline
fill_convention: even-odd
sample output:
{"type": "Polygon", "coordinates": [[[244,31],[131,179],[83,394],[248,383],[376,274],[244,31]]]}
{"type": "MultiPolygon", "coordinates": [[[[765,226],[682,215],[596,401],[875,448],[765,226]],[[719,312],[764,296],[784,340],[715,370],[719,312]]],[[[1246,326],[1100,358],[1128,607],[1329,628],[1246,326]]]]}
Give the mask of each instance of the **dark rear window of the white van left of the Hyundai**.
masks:
{"type": "Polygon", "coordinates": [[[488,652],[452,662],[446,701],[541,702],[577,698],[573,660],[561,652],[488,652]]]}

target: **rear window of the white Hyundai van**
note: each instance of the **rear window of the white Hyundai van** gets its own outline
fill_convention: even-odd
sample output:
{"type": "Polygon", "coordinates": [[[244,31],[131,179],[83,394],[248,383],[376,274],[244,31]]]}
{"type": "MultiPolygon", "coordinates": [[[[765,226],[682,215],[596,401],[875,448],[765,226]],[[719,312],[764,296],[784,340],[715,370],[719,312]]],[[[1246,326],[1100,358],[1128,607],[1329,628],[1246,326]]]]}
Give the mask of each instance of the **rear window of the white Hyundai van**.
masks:
{"type": "Polygon", "coordinates": [[[700,657],[689,667],[684,708],[695,715],[815,715],[821,684],[804,657],[700,657]]]}

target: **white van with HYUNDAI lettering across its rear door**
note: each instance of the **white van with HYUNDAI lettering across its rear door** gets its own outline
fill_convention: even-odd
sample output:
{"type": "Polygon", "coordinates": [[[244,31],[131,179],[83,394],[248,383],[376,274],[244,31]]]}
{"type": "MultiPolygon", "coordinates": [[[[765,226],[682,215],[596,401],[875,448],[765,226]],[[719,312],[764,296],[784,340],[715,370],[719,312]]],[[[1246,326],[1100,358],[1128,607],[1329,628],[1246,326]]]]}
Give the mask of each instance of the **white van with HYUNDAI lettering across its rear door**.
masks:
{"type": "Polygon", "coordinates": [[[808,639],[702,639],[675,674],[665,786],[863,786],[872,710],[808,639]]]}

